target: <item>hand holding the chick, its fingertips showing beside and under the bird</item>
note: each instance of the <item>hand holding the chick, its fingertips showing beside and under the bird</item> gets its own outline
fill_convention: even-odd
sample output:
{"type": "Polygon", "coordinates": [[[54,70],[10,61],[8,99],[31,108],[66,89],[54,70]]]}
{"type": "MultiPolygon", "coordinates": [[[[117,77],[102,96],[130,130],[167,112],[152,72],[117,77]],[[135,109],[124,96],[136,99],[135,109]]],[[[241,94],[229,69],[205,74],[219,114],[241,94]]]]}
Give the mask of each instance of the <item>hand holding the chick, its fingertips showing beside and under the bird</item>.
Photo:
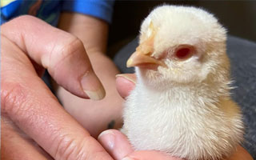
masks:
{"type": "MultiPolygon", "coordinates": [[[[134,74],[122,74],[117,77],[117,89],[118,93],[122,98],[126,98],[130,91],[133,90],[134,84],[136,82],[136,77],[134,74]]],[[[102,146],[110,153],[110,155],[115,159],[162,159],[162,160],[178,160],[181,158],[170,157],[165,153],[154,150],[134,150],[130,145],[130,142],[124,134],[118,130],[106,130],[99,135],[98,141],[102,143],[102,146]]],[[[237,151],[232,154],[230,158],[226,160],[252,160],[250,154],[238,146],[237,151]]]]}

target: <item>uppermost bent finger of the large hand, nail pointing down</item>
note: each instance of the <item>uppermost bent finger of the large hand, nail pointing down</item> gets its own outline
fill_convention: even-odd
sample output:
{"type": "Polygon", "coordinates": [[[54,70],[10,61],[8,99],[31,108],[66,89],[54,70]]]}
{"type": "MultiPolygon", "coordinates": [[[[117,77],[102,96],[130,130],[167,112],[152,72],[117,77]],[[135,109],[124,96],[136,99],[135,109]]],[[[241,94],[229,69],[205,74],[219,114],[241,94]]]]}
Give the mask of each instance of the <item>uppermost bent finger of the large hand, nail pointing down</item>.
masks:
{"type": "Polygon", "coordinates": [[[82,42],[32,16],[22,16],[2,25],[2,34],[18,45],[54,80],[82,98],[102,99],[105,90],[94,74],[82,42]]]}

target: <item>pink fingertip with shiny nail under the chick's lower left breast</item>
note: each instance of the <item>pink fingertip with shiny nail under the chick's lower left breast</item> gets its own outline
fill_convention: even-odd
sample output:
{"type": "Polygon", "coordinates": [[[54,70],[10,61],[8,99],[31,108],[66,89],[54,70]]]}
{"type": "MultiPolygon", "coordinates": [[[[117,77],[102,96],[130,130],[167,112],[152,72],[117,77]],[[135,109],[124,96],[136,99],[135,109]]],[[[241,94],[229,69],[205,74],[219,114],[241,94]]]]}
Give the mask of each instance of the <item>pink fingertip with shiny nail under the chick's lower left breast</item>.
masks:
{"type": "Polygon", "coordinates": [[[106,130],[98,136],[98,141],[114,159],[122,159],[134,149],[126,136],[118,130],[106,130]]]}

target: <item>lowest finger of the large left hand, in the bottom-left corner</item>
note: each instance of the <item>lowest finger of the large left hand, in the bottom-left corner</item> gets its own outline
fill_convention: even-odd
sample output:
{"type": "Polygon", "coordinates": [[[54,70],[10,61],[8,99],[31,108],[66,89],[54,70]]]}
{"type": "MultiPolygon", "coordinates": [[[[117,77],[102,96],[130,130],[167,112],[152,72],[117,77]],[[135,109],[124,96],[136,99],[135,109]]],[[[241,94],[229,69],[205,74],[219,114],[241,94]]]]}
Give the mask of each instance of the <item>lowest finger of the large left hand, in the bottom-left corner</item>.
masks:
{"type": "Polygon", "coordinates": [[[6,118],[1,118],[1,158],[2,159],[52,159],[40,147],[35,146],[34,142],[18,133],[20,130],[11,122],[6,122],[6,118]]]}

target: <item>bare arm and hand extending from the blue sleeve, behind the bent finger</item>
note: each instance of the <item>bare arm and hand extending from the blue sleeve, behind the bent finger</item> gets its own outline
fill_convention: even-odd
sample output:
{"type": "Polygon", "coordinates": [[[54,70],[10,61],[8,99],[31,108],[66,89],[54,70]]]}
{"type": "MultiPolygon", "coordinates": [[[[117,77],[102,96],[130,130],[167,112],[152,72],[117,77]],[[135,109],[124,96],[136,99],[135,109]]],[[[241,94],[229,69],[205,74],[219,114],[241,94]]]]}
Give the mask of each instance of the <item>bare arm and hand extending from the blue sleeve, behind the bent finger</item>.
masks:
{"type": "Polygon", "coordinates": [[[78,98],[57,86],[55,89],[58,99],[94,138],[108,127],[121,128],[123,99],[115,90],[115,75],[119,74],[119,71],[106,55],[108,24],[84,14],[64,12],[58,27],[81,39],[94,71],[106,90],[105,98],[94,101],[78,98]]]}

